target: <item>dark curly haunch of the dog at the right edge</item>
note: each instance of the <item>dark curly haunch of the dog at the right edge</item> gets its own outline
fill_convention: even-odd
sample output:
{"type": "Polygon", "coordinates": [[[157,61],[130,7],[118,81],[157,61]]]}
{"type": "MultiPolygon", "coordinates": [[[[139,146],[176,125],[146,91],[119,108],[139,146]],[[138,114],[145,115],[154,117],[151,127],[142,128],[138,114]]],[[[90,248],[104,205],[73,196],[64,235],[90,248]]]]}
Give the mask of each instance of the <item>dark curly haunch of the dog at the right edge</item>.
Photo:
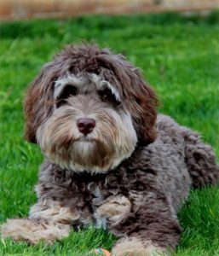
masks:
{"type": "Polygon", "coordinates": [[[193,187],[216,185],[219,181],[219,166],[216,165],[213,149],[201,142],[199,134],[189,129],[185,129],[184,138],[185,160],[193,180],[193,187]]]}

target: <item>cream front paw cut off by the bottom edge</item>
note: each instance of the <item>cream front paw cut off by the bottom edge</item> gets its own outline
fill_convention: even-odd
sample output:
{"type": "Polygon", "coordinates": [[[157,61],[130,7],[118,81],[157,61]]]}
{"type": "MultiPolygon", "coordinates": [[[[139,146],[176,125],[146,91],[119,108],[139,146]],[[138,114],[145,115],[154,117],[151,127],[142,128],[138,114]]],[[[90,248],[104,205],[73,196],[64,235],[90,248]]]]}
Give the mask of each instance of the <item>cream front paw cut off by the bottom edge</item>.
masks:
{"type": "Polygon", "coordinates": [[[136,238],[126,238],[118,241],[112,248],[112,256],[167,256],[164,249],[156,247],[148,241],[143,244],[136,238]]]}

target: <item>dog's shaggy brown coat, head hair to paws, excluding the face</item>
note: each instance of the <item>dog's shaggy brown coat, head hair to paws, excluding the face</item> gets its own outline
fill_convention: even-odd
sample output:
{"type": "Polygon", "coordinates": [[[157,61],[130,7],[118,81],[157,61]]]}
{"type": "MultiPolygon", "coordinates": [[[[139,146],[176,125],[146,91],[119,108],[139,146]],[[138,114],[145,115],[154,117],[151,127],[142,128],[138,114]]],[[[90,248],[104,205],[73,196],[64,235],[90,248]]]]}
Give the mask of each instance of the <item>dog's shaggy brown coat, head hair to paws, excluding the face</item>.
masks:
{"type": "Polygon", "coordinates": [[[139,71],[122,55],[95,45],[67,47],[31,84],[25,103],[30,142],[37,143],[37,129],[53,115],[55,80],[66,71],[95,73],[115,84],[135,128],[135,150],[118,166],[95,174],[72,172],[46,157],[37,204],[29,218],[8,220],[3,237],[50,243],[68,236],[72,226],[95,224],[118,236],[113,255],[174,249],[181,234],[176,214],[189,189],[218,182],[214,152],[196,132],[157,116],[157,96],[139,71]]]}

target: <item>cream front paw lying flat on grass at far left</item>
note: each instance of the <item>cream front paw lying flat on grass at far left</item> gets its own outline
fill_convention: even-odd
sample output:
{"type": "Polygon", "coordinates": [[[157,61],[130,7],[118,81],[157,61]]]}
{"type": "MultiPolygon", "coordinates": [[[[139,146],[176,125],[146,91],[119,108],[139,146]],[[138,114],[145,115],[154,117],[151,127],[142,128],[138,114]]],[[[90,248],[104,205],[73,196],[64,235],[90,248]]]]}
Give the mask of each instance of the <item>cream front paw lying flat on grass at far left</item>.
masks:
{"type": "Polygon", "coordinates": [[[70,228],[64,224],[54,224],[46,220],[9,219],[1,227],[2,237],[10,237],[14,241],[26,241],[36,244],[39,241],[52,243],[69,234],[70,228]]]}

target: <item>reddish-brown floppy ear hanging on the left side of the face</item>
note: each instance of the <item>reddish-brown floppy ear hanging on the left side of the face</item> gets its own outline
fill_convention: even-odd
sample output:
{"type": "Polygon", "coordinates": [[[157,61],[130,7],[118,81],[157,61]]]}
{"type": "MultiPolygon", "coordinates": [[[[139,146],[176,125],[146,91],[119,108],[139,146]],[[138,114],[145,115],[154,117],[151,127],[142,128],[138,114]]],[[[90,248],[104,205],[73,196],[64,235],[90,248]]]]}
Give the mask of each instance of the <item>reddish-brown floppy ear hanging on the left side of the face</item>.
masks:
{"type": "Polygon", "coordinates": [[[45,65],[26,92],[24,104],[25,137],[31,143],[37,143],[37,128],[52,113],[53,84],[55,81],[55,70],[53,68],[53,63],[45,65]]]}

